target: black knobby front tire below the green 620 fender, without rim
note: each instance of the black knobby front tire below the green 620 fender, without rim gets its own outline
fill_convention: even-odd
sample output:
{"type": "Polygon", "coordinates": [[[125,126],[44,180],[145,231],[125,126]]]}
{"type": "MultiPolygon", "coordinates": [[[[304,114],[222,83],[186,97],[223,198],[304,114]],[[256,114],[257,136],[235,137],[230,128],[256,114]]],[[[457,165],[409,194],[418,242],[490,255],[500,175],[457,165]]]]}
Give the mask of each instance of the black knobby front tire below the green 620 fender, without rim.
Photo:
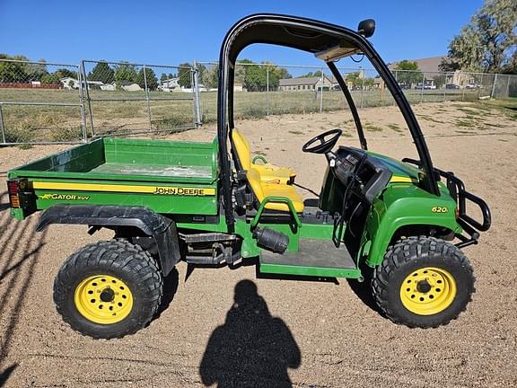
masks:
{"type": "MultiPolygon", "coordinates": [[[[425,329],[445,325],[456,319],[471,300],[475,291],[474,282],[473,269],[459,248],[434,237],[408,237],[390,246],[381,265],[374,269],[372,292],[381,312],[392,322],[425,329]],[[403,282],[409,282],[407,279],[410,279],[410,276],[414,273],[421,274],[422,272],[418,271],[426,268],[446,271],[444,273],[453,278],[456,286],[456,292],[451,293],[450,304],[444,303],[443,310],[432,314],[410,311],[403,303],[401,295],[407,290],[408,294],[415,292],[417,296],[434,297],[431,295],[433,290],[425,291],[429,285],[427,280],[424,280],[427,286],[416,285],[416,291],[413,291],[413,288],[411,291],[410,288],[402,288],[409,287],[406,284],[403,286],[403,282]]],[[[436,290],[442,291],[439,288],[436,290]]],[[[420,300],[424,300],[423,303],[427,302],[425,298],[420,300]]]]}

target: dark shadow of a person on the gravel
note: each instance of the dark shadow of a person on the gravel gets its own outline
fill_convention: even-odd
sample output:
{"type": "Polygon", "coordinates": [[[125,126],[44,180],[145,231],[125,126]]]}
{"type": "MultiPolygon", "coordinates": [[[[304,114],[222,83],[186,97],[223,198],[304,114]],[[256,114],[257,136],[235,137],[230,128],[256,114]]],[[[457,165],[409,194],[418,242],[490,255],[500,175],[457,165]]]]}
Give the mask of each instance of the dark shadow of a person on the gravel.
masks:
{"type": "Polygon", "coordinates": [[[235,287],[226,321],[212,333],[199,366],[203,384],[217,387],[292,387],[288,369],[302,363],[300,348],[250,280],[235,287]]]}

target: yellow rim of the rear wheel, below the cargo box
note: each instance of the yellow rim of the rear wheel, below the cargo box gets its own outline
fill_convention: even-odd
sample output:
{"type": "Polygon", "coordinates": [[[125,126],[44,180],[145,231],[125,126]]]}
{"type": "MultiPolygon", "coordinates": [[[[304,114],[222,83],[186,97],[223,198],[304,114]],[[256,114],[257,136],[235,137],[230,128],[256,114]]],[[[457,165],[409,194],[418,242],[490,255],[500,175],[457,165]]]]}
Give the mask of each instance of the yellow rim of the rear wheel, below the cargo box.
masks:
{"type": "Polygon", "coordinates": [[[93,275],[75,288],[77,311],[89,321],[112,324],[124,320],[133,308],[131,290],[119,278],[93,275]]]}

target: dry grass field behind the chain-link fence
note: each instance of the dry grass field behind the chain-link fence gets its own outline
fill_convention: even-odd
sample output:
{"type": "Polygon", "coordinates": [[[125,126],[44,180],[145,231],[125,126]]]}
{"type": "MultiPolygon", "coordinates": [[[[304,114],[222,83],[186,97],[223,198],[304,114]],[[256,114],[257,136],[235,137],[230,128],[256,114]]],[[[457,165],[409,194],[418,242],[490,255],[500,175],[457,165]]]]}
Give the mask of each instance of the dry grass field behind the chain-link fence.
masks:
{"type": "MultiPolygon", "coordinates": [[[[473,101],[486,90],[406,90],[411,103],[473,101]]],[[[201,95],[202,122],[216,119],[217,93],[201,95]]],[[[393,105],[388,91],[353,91],[357,107],[393,105]]],[[[90,91],[90,105],[84,103],[88,136],[120,134],[137,130],[177,130],[195,125],[192,93],[90,91]],[[171,100],[173,99],[173,100],[171,100]],[[91,109],[90,109],[91,108],[91,109]],[[90,114],[92,113],[92,114],[90,114]]],[[[83,138],[79,92],[74,90],[0,89],[1,119],[6,143],[68,142],[83,138]],[[1,102],[77,104],[77,106],[13,105],[1,102]]],[[[346,109],[341,92],[254,92],[235,94],[236,119],[259,119],[286,113],[310,113],[346,109]]],[[[0,143],[2,142],[0,137],[0,143]]]]}

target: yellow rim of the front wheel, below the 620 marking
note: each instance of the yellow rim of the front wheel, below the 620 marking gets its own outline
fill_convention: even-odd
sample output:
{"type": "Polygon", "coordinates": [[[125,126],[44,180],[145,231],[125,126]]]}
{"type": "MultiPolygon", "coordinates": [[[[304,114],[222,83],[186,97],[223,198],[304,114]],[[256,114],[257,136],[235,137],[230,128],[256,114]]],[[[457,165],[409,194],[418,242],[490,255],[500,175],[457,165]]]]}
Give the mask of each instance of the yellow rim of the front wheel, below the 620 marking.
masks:
{"type": "Polygon", "coordinates": [[[400,300],[411,313],[442,313],[456,297],[456,281],[444,269],[416,269],[400,285],[400,300]]]}

